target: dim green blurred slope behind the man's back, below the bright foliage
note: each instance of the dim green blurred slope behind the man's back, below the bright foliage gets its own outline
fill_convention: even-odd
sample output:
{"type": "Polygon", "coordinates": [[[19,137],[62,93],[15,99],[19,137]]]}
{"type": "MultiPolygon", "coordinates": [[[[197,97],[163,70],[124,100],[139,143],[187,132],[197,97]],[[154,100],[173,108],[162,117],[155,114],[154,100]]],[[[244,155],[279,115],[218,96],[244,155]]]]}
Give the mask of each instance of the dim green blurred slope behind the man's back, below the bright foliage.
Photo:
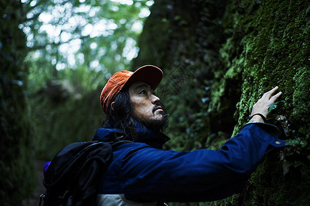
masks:
{"type": "MultiPolygon", "coordinates": [[[[65,92],[60,91],[61,94],[65,92]]],[[[60,100],[59,95],[51,99],[46,93],[32,98],[32,105],[37,105],[33,109],[36,112],[33,124],[37,126],[34,144],[37,158],[50,160],[64,146],[92,139],[103,113],[99,106],[100,92],[97,89],[78,96],[70,93],[60,100]]]]}

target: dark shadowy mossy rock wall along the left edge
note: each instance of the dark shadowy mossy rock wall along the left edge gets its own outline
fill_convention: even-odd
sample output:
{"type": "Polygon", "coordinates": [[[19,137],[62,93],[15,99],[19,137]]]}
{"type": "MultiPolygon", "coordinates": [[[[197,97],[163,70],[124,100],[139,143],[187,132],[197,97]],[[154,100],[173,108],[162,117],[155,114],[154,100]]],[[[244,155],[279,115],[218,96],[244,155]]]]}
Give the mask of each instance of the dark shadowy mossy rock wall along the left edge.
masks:
{"type": "Polygon", "coordinates": [[[19,205],[31,194],[37,176],[25,95],[28,69],[24,14],[20,1],[0,1],[0,205],[19,205]]]}

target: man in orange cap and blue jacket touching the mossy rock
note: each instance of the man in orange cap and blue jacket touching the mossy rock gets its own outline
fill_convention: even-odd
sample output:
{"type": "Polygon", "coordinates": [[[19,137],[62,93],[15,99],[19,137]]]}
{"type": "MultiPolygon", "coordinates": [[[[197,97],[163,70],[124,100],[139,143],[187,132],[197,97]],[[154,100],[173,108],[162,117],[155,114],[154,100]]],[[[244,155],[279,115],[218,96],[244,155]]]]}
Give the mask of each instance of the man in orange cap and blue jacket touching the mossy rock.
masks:
{"type": "Polygon", "coordinates": [[[250,122],[220,150],[193,152],[162,150],[169,137],[161,133],[167,113],[154,90],[163,72],[146,65],[118,71],[101,92],[107,114],[105,128],[94,140],[122,141],[114,148],[112,164],[103,174],[98,205],[159,205],[163,202],[214,201],[242,190],[262,156],[285,146],[278,128],[265,124],[268,105],[278,87],[253,106],[250,122]]]}

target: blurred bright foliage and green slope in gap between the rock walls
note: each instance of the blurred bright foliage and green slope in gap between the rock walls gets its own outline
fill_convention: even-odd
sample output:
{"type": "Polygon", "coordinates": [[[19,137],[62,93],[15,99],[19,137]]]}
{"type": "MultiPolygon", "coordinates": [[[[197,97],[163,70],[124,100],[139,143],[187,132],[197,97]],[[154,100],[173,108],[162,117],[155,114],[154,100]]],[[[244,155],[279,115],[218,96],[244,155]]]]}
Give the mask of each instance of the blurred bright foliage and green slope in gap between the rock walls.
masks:
{"type": "Polygon", "coordinates": [[[38,159],[51,159],[72,141],[92,139],[103,119],[100,91],[136,56],[153,2],[23,2],[34,148],[38,159]]]}

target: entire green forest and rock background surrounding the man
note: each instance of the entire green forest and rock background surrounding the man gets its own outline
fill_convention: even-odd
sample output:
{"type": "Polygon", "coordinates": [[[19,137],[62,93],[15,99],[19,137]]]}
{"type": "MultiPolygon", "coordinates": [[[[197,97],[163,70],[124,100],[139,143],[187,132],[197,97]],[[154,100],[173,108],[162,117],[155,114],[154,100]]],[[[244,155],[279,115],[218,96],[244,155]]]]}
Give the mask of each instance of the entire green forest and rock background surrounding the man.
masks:
{"type": "Polygon", "coordinates": [[[309,12],[302,0],[0,0],[1,205],[25,204],[38,160],[92,139],[112,73],[147,64],[165,73],[165,149],[216,150],[262,93],[283,93],[268,122],[287,146],[240,194],[169,205],[308,205],[309,12]]]}

